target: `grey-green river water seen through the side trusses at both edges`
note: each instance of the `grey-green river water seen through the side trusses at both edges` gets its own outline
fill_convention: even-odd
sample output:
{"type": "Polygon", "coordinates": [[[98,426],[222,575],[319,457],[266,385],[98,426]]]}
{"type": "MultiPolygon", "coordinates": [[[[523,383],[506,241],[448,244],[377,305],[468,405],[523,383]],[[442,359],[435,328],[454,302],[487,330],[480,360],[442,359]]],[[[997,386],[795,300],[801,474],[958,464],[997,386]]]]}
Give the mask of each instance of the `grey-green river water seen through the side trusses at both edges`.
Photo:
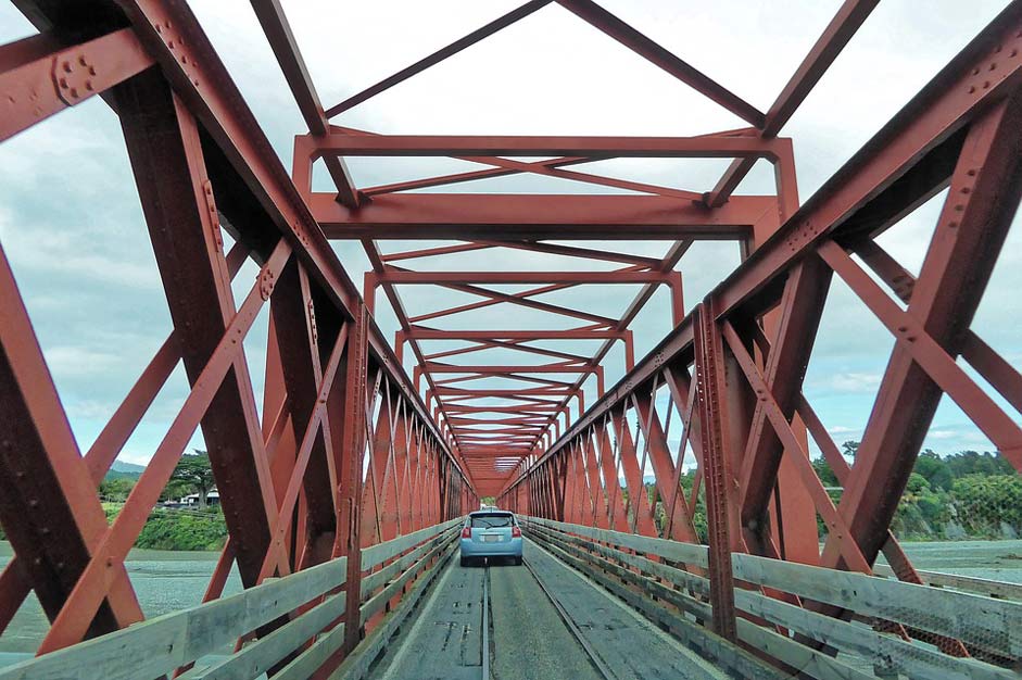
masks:
{"type": "MultiPolygon", "coordinates": [[[[1022,540],[903,543],[917,569],[946,571],[999,581],[1022,583],[1022,540]]],[[[11,559],[11,547],[0,542],[0,568],[11,559]]],[[[216,566],[217,553],[133,550],[126,562],[131,583],[147,618],[193,606],[201,602],[216,566]]],[[[241,590],[237,569],[231,571],[224,594],[241,590]]],[[[0,635],[0,666],[24,658],[46,635],[49,627],[35,595],[15,615],[0,635]]]]}

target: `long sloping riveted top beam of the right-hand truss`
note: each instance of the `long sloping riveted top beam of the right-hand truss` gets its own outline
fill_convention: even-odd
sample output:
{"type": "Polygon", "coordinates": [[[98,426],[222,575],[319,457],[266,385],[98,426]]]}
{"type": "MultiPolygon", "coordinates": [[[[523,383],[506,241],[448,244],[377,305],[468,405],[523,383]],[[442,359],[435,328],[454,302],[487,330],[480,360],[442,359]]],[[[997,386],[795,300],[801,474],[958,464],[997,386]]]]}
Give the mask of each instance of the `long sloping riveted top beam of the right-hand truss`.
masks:
{"type": "MultiPolygon", "coordinates": [[[[977,111],[1002,101],[1022,85],[1022,63],[1018,61],[999,62],[995,71],[989,70],[995,48],[1005,49],[1018,43],[1020,25],[1022,3],[1015,2],[942,70],[777,234],[711,291],[710,297],[719,304],[718,316],[727,317],[740,306],[746,313],[753,313],[749,307],[761,312],[771,308],[780,290],[777,281],[825,237],[856,235],[863,228],[863,222],[865,226],[874,228],[903,215],[907,210],[906,203],[917,204],[920,199],[901,190],[897,182],[911,176],[916,165],[923,167],[924,174],[933,176],[933,186],[946,186],[952,166],[943,161],[939,152],[945,147],[942,144],[955,144],[956,140],[960,143],[955,133],[977,111]],[[885,193],[892,188],[896,191],[885,193]],[[870,213],[866,209],[871,204],[880,207],[870,213]]],[[[952,148],[957,153],[957,147],[952,148]]],[[[664,362],[673,358],[691,363],[692,342],[690,314],[646,358],[578,418],[537,465],[602,420],[633,389],[649,381],[664,362]]],[[[525,475],[513,480],[508,488],[523,479],[525,475]]]]}

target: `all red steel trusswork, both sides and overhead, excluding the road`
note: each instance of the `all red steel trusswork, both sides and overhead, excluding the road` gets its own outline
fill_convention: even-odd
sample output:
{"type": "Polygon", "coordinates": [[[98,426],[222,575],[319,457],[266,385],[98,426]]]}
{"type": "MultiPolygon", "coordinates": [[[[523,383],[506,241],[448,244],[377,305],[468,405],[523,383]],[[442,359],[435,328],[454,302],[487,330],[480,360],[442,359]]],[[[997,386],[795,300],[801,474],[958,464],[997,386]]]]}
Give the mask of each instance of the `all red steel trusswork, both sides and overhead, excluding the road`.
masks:
{"type": "MultiPolygon", "coordinates": [[[[292,648],[291,656],[273,660],[277,670],[288,659],[314,658],[320,675],[338,667],[364,635],[366,644],[377,644],[374,629],[384,631],[394,620],[384,610],[409,578],[441,559],[441,544],[427,539],[439,541],[433,537],[454,526],[449,520],[484,496],[586,531],[695,544],[693,508],[702,495],[709,522],[705,559],[663,562],[685,567],[686,579],[707,580],[698,620],[724,639],[757,647],[762,638],[749,638],[748,624],[765,615],[742,608],[749,582],[736,576],[742,553],[869,572],[882,551],[899,579],[921,582],[889,525],[943,394],[1022,467],[1022,428],[1018,414],[1005,407],[1022,412],[1022,376],[970,329],[1022,192],[1019,1],[800,206],[791,140],[779,134],[876,2],[844,2],[774,103],[760,112],[590,0],[527,2],[325,106],[279,2],[253,0],[307,126],[295,138],[290,173],[184,3],[16,4],[40,33],[0,47],[0,141],[92,96],[104,98],[124,130],[174,323],[81,454],[23,293],[0,257],[0,525],[15,552],[0,572],[0,631],[34,591],[51,621],[40,653],[142,618],[124,559],[197,429],[210,450],[230,533],[204,600],[219,597],[232,565],[247,588],[342,566],[342,579],[310,591],[315,599],[244,628],[238,639],[241,650],[253,637],[274,640],[272,631],[301,621],[301,614],[332,612],[329,626],[302,638],[310,643],[303,653],[292,648]],[[541,20],[550,4],[748,127],[693,137],[516,137],[379,135],[335,123],[502,28],[533,14],[541,20]],[[346,164],[357,156],[442,156],[480,168],[357,187],[346,164]],[[522,160],[529,158],[534,160],[522,160]],[[715,186],[686,189],[585,168],[621,158],[722,158],[731,164],[715,186]],[[775,191],[734,193],[759,160],[773,166],[775,191]],[[319,161],[336,190],[313,191],[319,161]],[[626,193],[416,191],[518,174],[626,193]],[[945,207],[916,277],[875,239],[945,189],[945,207]],[[362,291],[329,239],[361,241],[371,265],[362,291]],[[380,247],[438,239],[454,242],[380,247]],[[649,256],[567,243],[638,240],[663,241],[666,251],[649,256]],[[677,267],[698,240],[737,243],[743,264],[686,310],[677,267]],[[594,265],[489,266],[510,251],[594,265]],[[258,276],[236,301],[231,280],[248,260],[258,276]],[[444,268],[430,260],[471,264],[444,268]],[[802,391],[834,274],[896,339],[853,466],[802,391]],[[618,316],[551,297],[582,286],[607,287],[602,290],[613,295],[622,285],[639,292],[624,298],[618,316]],[[399,289],[411,286],[468,301],[409,310],[399,289]],[[515,290],[502,288],[508,286],[515,290]],[[668,291],[664,314],[674,330],[636,363],[630,325],[659,288],[668,291]],[[393,345],[374,320],[378,289],[398,318],[393,345]],[[243,341],[267,306],[260,418],[243,341]],[[494,310],[506,312],[501,326],[456,323],[458,315],[494,310]],[[516,327],[514,312],[521,310],[546,315],[550,325],[516,327]],[[586,341],[596,349],[578,349],[586,341]],[[449,344],[428,347],[436,342],[449,344]],[[618,343],[627,374],[608,390],[606,362],[618,343]],[[405,344],[412,356],[404,355],[405,344]],[[495,350],[532,363],[487,361],[495,350]],[[97,486],[178,364],[191,391],[108,526],[97,486]],[[671,443],[672,423],[681,428],[680,445],[671,443]],[[809,437],[845,488],[837,504],[809,464],[809,437]],[[685,490],[680,480],[687,449],[696,476],[685,490]],[[822,553],[817,515],[828,527],[822,553]],[[400,546],[383,549],[395,542],[400,546]],[[400,569],[407,570],[389,581],[400,569]],[[345,600],[345,593],[361,596],[345,600]],[[319,608],[328,605],[340,608],[319,608]]],[[[779,600],[799,603],[785,597],[779,600]]],[[[810,613],[850,616],[828,600],[803,604],[810,613]]],[[[906,641],[924,639],[947,655],[1018,660],[964,634],[959,640],[943,629],[892,621],[885,630],[906,641]]],[[[764,644],[760,652],[790,669],[792,657],[764,644]]],[[[816,654],[823,645],[808,646],[816,654]]]]}

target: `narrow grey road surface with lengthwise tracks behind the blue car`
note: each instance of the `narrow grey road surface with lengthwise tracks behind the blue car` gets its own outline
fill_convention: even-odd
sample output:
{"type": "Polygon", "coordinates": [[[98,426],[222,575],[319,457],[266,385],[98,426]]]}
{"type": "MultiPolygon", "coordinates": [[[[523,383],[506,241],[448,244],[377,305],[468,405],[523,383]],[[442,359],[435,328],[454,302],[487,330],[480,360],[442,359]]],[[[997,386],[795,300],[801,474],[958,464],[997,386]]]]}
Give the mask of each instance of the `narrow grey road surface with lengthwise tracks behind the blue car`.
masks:
{"type": "Polygon", "coordinates": [[[370,678],[727,677],[534,542],[526,546],[526,561],[522,567],[460,567],[452,559],[415,622],[392,641],[370,678]],[[562,620],[544,587],[584,645],[562,620]],[[483,626],[489,676],[482,665],[483,626]]]}

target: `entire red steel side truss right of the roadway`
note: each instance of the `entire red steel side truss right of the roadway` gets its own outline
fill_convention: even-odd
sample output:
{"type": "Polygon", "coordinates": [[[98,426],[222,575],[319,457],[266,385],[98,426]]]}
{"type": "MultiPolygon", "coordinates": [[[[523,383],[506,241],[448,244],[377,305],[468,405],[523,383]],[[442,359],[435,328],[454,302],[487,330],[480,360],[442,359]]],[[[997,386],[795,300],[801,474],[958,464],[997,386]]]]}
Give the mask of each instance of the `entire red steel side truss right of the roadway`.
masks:
{"type": "MultiPolygon", "coordinates": [[[[1020,54],[1022,3],[1014,2],[543,455],[523,464],[502,490],[501,502],[520,512],[550,518],[563,513],[569,522],[606,527],[620,512],[609,503],[620,484],[607,480],[623,478],[629,489],[623,512],[633,522],[629,530],[644,532],[635,522],[647,513],[649,495],[640,489],[636,498],[628,481],[636,455],[632,440],[643,437],[640,451],[663,446],[666,437],[651,424],[669,427],[673,412],[684,430],[674,466],[654,466],[656,482],[648,491],[665,504],[666,514],[646,531],[674,538],[673,508],[694,504],[702,488],[710,582],[716,583],[712,624],[719,633],[734,634],[729,599],[736,584],[724,565],[734,552],[786,559],[809,554],[822,566],[865,572],[883,552],[898,578],[920,582],[888,527],[941,396],[951,399],[1022,470],[1018,413],[1002,406],[1022,412],[1022,375],[970,329],[1022,197],[1020,54]],[[875,238],[945,189],[916,277],[875,238]],[[851,465],[802,392],[834,275],[895,339],[851,465]],[[667,414],[658,416],[649,405],[665,400],[667,414]],[[634,427],[627,425],[632,417],[634,427]],[[809,464],[802,423],[845,488],[836,504],[809,464]],[[610,452],[610,466],[602,482],[593,488],[579,471],[569,481],[573,491],[566,505],[552,506],[537,480],[566,465],[589,469],[586,452],[593,442],[600,450],[608,435],[603,448],[610,452]],[[686,444],[695,458],[691,489],[678,484],[686,444]],[[822,552],[815,531],[806,545],[800,544],[805,537],[782,529],[778,508],[786,513],[790,507],[781,486],[784,464],[791,466],[790,484],[798,482],[813,515],[828,527],[822,552]],[[593,501],[593,511],[584,499],[593,501]]],[[[834,607],[809,606],[843,615],[834,607]]],[[[896,632],[921,637],[948,654],[974,652],[956,640],[896,632]]]]}

